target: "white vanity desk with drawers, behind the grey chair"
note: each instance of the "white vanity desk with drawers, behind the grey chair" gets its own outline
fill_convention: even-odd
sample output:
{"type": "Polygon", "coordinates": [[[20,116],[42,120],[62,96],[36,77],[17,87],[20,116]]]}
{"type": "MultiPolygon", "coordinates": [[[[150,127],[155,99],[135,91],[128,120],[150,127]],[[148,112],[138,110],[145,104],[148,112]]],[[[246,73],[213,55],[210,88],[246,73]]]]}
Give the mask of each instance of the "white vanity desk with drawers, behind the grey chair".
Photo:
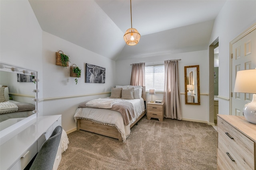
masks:
{"type": "MultiPolygon", "coordinates": [[[[1,137],[0,170],[23,170],[58,125],[61,125],[61,115],[36,117],[17,129],[18,133],[14,131],[1,137]]],[[[58,163],[61,147],[59,150],[58,161],[55,160],[58,163]]]]}

